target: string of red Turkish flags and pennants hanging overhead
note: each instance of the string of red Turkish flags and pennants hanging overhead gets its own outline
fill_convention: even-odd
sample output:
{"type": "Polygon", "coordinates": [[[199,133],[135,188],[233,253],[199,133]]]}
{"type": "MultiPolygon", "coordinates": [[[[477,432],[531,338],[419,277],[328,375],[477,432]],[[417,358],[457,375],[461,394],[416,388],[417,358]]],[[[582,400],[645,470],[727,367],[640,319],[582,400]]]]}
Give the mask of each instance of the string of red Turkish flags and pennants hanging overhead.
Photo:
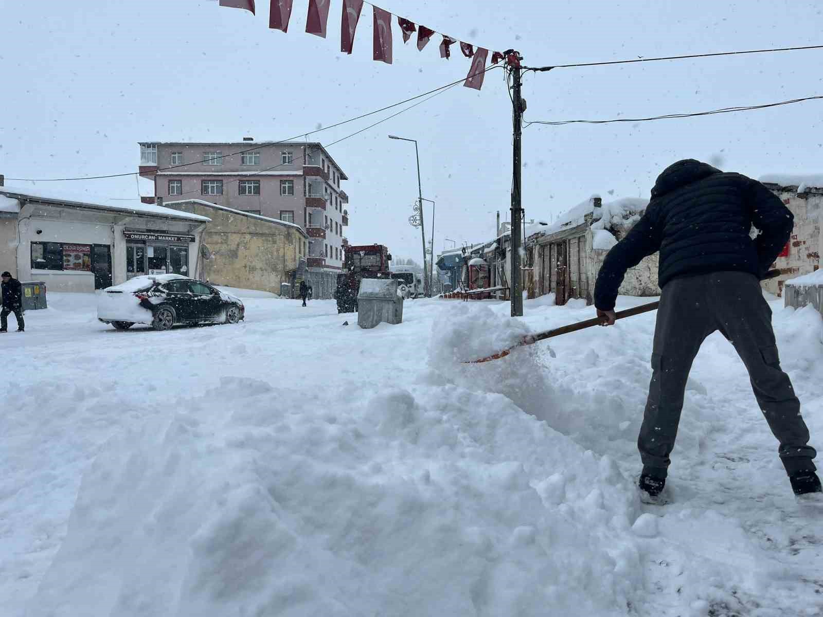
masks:
{"type": "MultiPolygon", "coordinates": [[[[221,7],[240,8],[254,14],[254,0],[219,0],[221,7]]],[[[294,0],[270,0],[271,9],[269,12],[268,27],[272,30],[288,32],[289,20],[291,19],[291,9],[294,0]]],[[[397,17],[398,26],[403,37],[403,44],[407,44],[412,35],[417,34],[417,49],[422,51],[434,35],[443,37],[440,41],[440,58],[451,58],[451,47],[459,44],[459,49],[466,58],[471,58],[472,66],[469,68],[466,81],[463,86],[480,90],[483,87],[483,80],[486,77],[486,61],[489,57],[489,50],[482,47],[475,47],[471,43],[465,43],[453,39],[449,35],[441,34],[435,30],[421,26],[405,17],[393,15],[380,7],[366,2],[365,0],[342,0],[343,10],[340,23],[340,51],[351,54],[354,47],[355,31],[360,21],[360,13],[364,4],[372,7],[374,43],[373,58],[375,61],[391,64],[393,62],[392,49],[392,23],[397,17]]],[[[309,0],[309,12],[306,16],[306,32],[326,38],[328,28],[328,12],[331,0],[309,0]]],[[[504,60],[504,54],[493,51],[491,53],[491,63],[497,64],[504,60]]]]}

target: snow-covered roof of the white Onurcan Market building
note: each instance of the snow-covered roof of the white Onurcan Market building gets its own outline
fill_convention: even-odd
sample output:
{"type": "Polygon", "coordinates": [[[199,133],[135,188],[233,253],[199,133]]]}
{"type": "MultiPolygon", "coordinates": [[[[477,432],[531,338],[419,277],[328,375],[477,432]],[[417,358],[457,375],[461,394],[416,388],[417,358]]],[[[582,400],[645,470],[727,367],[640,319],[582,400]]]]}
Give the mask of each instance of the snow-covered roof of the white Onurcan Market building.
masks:
{"type": "MultiPolygon", "coordinates": [[[[163,206],[142,203],[137,197],[134,199],[113,199],[110,197],[95,197],[91,193],[64,191],[60,188],[16,187],[4,186],[0,188],[0,195],[22,198],[24,201],[41,201],[64,206],[86,207],[95,210],[110,210],[139,216],[158,216],[165,219],[195,220],[198,223],[207,223],[211,219],[207,216],[189,214],[179,210],[172,210],[163,206]]],[[[19,211],[19,210],[17,210],[19,211]]]]}

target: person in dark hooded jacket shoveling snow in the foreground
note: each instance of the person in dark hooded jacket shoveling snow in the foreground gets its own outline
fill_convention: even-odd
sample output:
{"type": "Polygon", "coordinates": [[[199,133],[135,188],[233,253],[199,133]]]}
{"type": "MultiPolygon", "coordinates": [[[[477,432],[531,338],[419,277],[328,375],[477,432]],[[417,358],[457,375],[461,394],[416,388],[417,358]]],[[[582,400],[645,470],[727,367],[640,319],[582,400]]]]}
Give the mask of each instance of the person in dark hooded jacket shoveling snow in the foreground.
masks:
{"type": "Polygon", "coordinates": [[[800,401],[780,369],[771,309],[760,279],[788,242],[793,215],[763,184],[700,161],[663,170],[644,216],[607,254],[594,304],[603,325],[615,322],[625,271],[660,252],[663,290],[654,330],[652,379],[640,427],[639,488],[652,499],[666,484],[686,380],[700,345],[719,330],[751,378],[794,494],[821,492],[800,401]],[[752,225],[759,230],[751,239],[752,225]]]}

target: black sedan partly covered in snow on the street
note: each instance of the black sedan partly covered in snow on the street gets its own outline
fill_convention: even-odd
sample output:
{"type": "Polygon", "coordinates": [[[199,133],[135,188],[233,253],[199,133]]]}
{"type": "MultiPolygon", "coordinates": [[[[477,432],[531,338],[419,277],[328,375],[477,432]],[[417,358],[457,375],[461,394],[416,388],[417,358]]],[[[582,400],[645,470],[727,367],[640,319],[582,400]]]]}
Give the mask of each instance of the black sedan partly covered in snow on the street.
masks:
{"type": "Polygon", "coordinates": [[[106,288],[97,300],[97,318],[118,330],[135,323],[155,330],[179,323],[237,323],[244,317],[239,298],[178,274],[135,276],[106,288]]]}

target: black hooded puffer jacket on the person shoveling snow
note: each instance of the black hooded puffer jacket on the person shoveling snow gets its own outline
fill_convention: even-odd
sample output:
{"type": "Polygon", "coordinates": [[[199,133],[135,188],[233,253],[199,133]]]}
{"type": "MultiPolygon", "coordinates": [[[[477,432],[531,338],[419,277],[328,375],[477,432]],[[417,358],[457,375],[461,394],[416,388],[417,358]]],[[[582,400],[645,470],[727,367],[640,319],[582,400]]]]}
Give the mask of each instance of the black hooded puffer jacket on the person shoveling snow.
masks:
{"type": "Polygon", "coordinates": [[[699,160],[663,170],[646,213],[606,256],[594,304],[614,308],[625,271],[660,251],[660,287],[677,276],[715,271],[765,274],[792,234],[794,217],[779,197],[741,174],[699,160]],[[750,237],[754,225],[760,234],[750,237]]]}

